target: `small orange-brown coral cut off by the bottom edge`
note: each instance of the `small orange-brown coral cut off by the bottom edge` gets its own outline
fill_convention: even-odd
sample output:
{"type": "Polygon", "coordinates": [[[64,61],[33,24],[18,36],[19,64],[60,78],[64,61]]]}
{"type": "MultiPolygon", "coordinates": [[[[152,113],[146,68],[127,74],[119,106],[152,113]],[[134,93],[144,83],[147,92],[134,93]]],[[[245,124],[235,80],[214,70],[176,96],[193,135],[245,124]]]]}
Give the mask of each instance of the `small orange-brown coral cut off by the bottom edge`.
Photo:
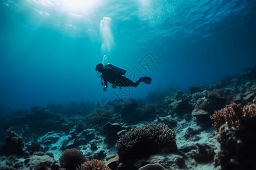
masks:
{"type": "Polygon", "coordinates": [[[111,170],[102,160],[93,159],[90,162],[85,162],[82,165],[84,170],[111,170]]]}

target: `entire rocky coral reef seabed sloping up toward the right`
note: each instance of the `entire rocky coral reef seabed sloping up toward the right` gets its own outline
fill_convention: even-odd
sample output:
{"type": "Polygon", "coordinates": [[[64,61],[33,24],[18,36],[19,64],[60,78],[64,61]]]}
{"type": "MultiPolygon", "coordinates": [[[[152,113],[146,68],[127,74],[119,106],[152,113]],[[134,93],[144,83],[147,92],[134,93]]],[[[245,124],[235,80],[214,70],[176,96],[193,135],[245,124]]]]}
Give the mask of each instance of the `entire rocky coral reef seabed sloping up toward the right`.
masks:
{"type": "Polygon", "coordinates": [[[97,168],[105,168],[102,160],[115,170],[150,164],[177,170],[256,169],[255,70],[187,91],[170,87],[143,100],[117,99],[108,118],[92,111],[94,103],[16,111],[12,118],[0,118],[0,169],[62,170],[61,164],[84,170],[85,157],[97,159],[88,162],[97,168]],[[72,149],[76,154],[61,155],[69,148],[77,148],[72,149]]]}

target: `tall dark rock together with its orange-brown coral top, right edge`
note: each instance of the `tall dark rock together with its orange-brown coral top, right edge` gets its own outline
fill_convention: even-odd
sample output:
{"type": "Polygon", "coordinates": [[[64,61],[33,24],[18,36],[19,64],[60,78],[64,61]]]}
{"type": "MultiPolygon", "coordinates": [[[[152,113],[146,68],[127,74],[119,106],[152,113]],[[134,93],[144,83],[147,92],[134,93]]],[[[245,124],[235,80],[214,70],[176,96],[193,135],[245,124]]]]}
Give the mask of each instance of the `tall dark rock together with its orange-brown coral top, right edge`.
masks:
{"type": "Polygon", "coordinates": [[[221,145],[216,165],[226,169],[256,169],[256,107],[231,104],[211,117],[221,145]]]}

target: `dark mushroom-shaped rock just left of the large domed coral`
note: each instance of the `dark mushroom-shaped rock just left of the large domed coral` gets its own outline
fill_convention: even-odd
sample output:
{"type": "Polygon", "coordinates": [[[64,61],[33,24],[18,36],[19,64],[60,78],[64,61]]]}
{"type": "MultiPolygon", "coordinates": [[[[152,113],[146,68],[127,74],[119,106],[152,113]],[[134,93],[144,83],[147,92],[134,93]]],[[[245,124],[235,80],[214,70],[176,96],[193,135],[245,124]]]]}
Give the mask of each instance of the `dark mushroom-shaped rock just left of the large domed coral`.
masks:
{"type": "Polygon", "coordinates": [[[106,133],[106,137],[104,142],[108,145],[108,147],[114,146],[118,140],[118,131],[123,130],[122,126],[118,123],[110,124],[106,123],[102,126],[102,130],[106,133]]]}

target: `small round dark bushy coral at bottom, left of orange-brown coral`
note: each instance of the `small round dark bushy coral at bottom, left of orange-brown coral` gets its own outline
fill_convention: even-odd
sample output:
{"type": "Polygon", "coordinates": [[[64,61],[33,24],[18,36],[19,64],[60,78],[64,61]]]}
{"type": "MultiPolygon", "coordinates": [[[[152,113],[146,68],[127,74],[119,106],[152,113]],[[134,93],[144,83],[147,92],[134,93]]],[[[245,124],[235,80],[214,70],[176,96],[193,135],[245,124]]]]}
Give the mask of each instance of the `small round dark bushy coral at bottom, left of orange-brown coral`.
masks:
{"type": "Polygon", "coordinates": [[[67,170],[76,169],[79,165],[86,162],[85,156],[76,148],[65,150],[60,156],[60,166],[67,170]]]}

